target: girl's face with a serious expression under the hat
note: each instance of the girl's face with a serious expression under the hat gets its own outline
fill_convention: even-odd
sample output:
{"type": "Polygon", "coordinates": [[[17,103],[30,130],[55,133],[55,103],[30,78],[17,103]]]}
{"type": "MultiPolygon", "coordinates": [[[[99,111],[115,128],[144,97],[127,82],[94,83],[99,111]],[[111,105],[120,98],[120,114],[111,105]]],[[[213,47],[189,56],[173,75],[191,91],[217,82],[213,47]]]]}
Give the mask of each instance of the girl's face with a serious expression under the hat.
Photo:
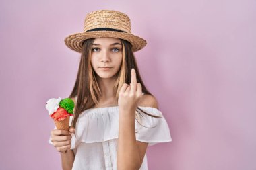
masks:
{"type": "Polygon", "coordinates": [[[92,44],[92,68],[98,77],[114,77],[122,62],[122,44],[118,38],[96,38],[92,44]]]}

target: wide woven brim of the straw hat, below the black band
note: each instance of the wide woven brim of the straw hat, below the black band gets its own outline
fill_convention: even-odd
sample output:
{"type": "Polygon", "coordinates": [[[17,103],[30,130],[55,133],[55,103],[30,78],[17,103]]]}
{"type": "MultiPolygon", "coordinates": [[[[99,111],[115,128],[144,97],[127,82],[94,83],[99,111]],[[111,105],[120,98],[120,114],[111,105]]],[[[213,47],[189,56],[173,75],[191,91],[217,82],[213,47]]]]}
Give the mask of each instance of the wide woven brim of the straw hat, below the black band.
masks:
{"type": "Polygon", "coordinates": [[[71,50],[75,50],[76,52],[82,52],[82,43],[84,40],[90,38],[101,38],[101,37],[111,37],[111,38],[121,38],[123,40],[127,40],[132,45],[133,52],[141,50],[146,46],[147,42],[143,38],[139,36],[135,36],[133,34],[129,34],[126,32],[115,32],[115,31],[93,31],[93,32],[82,32],[69,35],[65,38],[65,44],[71,50]]]}

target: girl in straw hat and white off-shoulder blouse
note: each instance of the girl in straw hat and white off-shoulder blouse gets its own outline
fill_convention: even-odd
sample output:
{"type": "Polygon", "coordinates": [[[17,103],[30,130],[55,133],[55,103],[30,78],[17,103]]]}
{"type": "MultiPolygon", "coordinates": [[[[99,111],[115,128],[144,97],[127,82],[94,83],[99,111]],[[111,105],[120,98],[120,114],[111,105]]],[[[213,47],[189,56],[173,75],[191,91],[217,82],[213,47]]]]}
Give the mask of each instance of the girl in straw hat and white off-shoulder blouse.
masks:
{"type": "Polygon", "coordinates": [[[81,60],[69,96],[75,102],[69,132],[55,128],[49,140],[63,169],[148,169],[147,147],[172,139],[133,54],[146,40],[131,34],[125,13],[100,10],[65,44],[81,60]]]}

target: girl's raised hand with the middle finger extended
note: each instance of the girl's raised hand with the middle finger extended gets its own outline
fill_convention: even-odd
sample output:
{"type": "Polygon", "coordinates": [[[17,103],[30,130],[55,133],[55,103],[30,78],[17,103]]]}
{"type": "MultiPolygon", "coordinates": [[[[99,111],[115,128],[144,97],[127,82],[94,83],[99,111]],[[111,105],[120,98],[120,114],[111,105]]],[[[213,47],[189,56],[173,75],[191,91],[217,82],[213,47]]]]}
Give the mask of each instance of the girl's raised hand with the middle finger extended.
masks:
{"type": "Polygon", "coordinates": [[[142,87],[140,83],[137,83],[135,69],[131,69],[131,85],[124,83],[119,92],[119,110],[135,114],[142,95],[142,87]]]}

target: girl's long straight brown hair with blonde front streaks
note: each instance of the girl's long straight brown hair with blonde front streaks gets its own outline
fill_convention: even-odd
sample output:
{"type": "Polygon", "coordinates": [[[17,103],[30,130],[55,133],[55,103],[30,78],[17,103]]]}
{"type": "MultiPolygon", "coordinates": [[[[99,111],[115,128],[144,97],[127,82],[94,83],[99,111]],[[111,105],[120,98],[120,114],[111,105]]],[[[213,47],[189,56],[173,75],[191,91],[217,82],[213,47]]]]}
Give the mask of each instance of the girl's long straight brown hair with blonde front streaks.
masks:
{"type": "MultiPolygon", "coordinates": [[[[134,54],[132,52],[131,43],[120,39],[123,46],[123,60],[121,62],[121,67],[119,72],[117,73],[117,78],[115,82],[115,99],[117,101],[119,97],[119,91],[123,85],[123,83],[130,84],[131,81],[131,69],[134,68],[137,76],[137,83],[141,83],[142,92],[144,94],[152,95],[145,87],[141,76],[139,74],[139,69],[137,67],[137,62],[135,60],[134,54]]],[[[98,81],[96,80],[96,73],[91,65],[91,52],[92,52],[92,43],[94,42],[94,38],[84,40],[82,46],[82,54],[81,60],[79,63],[79,69],[77,73],[77,79],[75,81],[75,86],[69,95],[69,98],[74,98],[77,96],[77,101],[74,110],[74,118],[72,121],[73,127],[76,126],[77,119],[79,115],[89,108],[93,108],[98,104],[101,91],[98,85],[98,81]]],[[[136,113],[140,114],[143,117],[141,112],[147,114],[148,116],[153,116],[155,118],[161,118],[162,116],[154,116],[143,111],[141,108],[136,108],[136,113]]],[[[135,114],[135,119],[137,120],[137,115],[135,114]]],[[[137,122],[139,122],[137,120],[137,122]]],[[[139,123],[140,124],[140,123],[139,123]]],[[[142,125],[143,126],[143,125],[142,125]]],[[[145,127],[145,126],[144,126],[145,127]]]]}

